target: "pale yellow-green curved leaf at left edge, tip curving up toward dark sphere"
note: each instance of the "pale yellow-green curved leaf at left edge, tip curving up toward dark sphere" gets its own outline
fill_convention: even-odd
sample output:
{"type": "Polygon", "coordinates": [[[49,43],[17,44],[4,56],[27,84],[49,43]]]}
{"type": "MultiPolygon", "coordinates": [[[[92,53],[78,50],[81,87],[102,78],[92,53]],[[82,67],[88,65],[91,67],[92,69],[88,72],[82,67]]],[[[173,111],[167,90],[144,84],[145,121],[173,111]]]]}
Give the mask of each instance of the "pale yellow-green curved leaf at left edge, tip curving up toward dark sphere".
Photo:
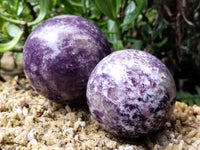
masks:
{"type": "Polygon", "coordinates": [[[23,35],[23,31],[19,32],[10,42],[0,44],[0,53],[7,52],[15,48],[23,35]]]}

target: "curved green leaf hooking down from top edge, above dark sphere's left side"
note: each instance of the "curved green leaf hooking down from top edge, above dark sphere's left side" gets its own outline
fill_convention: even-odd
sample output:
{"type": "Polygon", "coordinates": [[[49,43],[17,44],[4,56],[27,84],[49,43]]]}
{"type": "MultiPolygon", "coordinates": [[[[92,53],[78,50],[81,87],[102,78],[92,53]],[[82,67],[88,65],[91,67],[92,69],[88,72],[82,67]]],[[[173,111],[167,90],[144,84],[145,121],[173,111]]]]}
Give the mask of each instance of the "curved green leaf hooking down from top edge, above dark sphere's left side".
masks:
{"type": "Polygon", "coordinates": [[[50,2],[50,0],[40,0],[40,13],[34,21],[28,23],[28,26],[36,25],[45,18],[50,2]]]}

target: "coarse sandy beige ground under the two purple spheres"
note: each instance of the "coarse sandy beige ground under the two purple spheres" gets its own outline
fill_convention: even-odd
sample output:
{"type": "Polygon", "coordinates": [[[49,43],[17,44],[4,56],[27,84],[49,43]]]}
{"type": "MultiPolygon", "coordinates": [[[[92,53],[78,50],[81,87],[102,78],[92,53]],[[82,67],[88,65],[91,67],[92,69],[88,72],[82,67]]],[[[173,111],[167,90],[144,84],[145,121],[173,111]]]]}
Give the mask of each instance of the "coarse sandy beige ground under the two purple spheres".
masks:
{"type": "Polygon", "coordinates": [[[39,95],[25,79],[0,83],[0,149],[200,150],[200,107],[176,102],[157,133],[121,139],[104,131],[87,105],[61,105],[39,95]]]}

